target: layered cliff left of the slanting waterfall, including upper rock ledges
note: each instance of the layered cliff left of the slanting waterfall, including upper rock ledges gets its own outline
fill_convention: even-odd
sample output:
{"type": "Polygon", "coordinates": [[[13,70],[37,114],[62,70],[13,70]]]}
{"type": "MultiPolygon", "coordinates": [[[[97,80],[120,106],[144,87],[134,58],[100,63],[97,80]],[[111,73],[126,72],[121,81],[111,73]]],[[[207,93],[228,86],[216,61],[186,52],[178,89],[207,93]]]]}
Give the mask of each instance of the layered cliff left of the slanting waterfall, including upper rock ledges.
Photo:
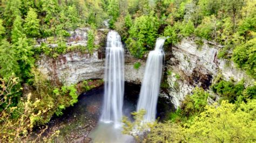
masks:
{"type": "MultiPolygon", "coordinates": [[[[68,38],[67,45],[86,46],[88,30],[89,28],[79,28],[76,31],[71,31],[71,37],[68,38]]],[[[79,51],[59,55],[56,59],[41,55],[40,60],[37,61],[39,71],[47,75],[50,80],[66,85],[89,79],[104,78],[104,49],[107,31],[106,29],[97,31],[95,45],[98,45],[99,48],[91,55],[79,51]]],[[[50,46],[55,47],[57,45],[52,44],[50,46]]],[[[134,69],[133,65],[136,61],[129,54],[125,54],[125,80],[140,84],[143,78],[145,62],[141,61],[141,68],[134,69]]]]}

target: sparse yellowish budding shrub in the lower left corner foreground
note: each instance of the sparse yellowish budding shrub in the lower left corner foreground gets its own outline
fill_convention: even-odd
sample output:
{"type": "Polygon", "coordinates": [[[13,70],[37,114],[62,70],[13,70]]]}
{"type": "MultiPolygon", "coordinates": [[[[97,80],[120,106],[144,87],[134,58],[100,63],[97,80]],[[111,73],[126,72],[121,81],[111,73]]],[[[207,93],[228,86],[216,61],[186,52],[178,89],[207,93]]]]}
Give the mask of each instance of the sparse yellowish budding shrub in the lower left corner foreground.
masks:
{"type": "MultiPolygon", "coordinates": [[[[44,113],[48,110],[37,110],[40,99],[33,101],[31,93],[21,98],[17,106],[11,106],[12,100],[8,95],[12,95],[15,92],[18,92],[16,85],[18,84],[17,77],[10,77],[8,82],[3,81],[0,78],[0,105],[4,104],[5,101],[8,101],[8,105],[5,106],[4,110],[0,111],[0,140],[3,142],[27,142],[31,136],[33,127],[35,127],[38,119],[42,118],[44,113]],[[5,90],[7,89],[7,90],[5,90]],[[4,99],[4,100],[3,100],[4,99]]],[[[39,134],[36,134],[36,138],[31,138],[33,142],[36,142],[47,127],[43,128],[39,134]]],[[[59,131],[56,131],[51,137],[55,137],[59,131]]],[[[50,141],[51,138],[45,142],[50,141]]]]}

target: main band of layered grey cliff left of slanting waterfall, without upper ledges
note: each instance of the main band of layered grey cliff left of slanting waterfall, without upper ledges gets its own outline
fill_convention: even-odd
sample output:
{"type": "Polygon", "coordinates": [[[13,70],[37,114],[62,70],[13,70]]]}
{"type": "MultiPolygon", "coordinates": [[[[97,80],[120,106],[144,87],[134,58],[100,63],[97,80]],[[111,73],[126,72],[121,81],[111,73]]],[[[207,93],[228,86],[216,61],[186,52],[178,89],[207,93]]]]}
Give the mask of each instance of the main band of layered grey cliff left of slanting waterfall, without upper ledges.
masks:
{"type": "MultiPolygon", "coordinates": [[[[100,58],[99,52],[92,55],[80,52],[70,52],[58,56],[57,59],[42,55],[37,62],[38,69],[50,80],[66,85],[78,83],[80,81],[104,78],[105,59],[100,58]]],[[[125,61],[125,81],[140,84],[143,78],[145,62],[139,69],[134,69],[136,60],[126,55],[125,61]]]]}

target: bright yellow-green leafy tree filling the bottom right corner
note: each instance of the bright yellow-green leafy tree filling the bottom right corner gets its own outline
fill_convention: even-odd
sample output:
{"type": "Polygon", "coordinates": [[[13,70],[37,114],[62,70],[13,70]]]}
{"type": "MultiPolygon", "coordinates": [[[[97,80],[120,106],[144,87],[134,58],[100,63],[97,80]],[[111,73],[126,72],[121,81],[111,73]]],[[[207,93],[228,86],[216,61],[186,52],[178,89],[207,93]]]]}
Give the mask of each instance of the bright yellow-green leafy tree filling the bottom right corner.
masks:
{"type": "Polygon", "coordinates": [[[235,110],[235,105],[223,101],[220,106],[206,106],[185,129],[186,140],[192,142],[253,142],[256,139],[256,101],[235,110]]]}

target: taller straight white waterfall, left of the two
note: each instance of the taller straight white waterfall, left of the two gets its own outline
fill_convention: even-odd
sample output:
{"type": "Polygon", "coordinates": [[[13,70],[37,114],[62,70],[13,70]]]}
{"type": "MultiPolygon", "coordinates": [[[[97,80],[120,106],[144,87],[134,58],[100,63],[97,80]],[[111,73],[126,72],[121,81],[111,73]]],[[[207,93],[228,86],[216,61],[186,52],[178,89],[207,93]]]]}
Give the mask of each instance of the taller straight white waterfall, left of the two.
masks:
{"type": "Polygon", "coordinates": [[[116,31],[107,34],[104,80],[104,103],[100,120],[113,122],[117,127],[122,120],[124,98],[124,49],[116,31]]]}

